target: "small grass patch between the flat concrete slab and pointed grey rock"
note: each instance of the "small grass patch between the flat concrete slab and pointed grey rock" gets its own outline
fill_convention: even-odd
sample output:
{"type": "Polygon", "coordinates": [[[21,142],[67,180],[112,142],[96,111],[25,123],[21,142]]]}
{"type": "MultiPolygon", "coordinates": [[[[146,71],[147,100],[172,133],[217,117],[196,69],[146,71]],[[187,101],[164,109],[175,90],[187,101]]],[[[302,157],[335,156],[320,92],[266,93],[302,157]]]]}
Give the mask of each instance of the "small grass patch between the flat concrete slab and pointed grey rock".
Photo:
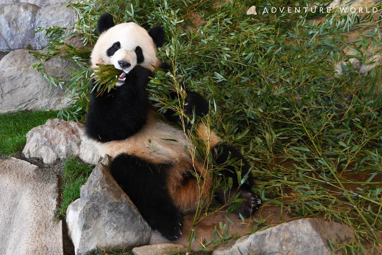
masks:
{"type": "Polygon", "coordinates": [[[87,181],[94,166],[80,161],[77,157],[65,161],[63,168],[62,201],[57,211],[57,217],[66,217],[66,209],[74,200],[79,198],[79,189],[87,181]]]}

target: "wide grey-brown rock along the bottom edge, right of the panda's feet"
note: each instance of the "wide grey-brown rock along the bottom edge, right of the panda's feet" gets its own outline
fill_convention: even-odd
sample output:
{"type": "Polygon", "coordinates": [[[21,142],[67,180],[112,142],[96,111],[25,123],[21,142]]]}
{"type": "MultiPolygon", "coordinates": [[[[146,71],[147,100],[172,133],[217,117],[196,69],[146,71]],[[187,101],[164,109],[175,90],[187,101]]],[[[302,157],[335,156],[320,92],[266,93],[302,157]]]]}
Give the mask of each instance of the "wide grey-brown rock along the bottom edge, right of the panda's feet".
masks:
{"type": "Polygon", "coordinates": [[[335,244],[354,240],[351,227],[323,219],[297,219],[243,236],[231,247],[221,247],[213,255],[288,254],[329,255],[327,239],[335,244]]]}

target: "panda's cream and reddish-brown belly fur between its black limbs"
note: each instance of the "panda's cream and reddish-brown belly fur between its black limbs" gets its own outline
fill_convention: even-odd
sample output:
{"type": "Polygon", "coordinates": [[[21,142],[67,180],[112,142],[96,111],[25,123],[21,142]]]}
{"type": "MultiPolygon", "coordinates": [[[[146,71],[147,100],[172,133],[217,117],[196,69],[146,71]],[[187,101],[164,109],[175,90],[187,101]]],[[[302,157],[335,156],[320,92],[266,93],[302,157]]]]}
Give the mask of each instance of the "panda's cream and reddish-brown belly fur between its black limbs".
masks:
{"type": "MultiPolygon", "coordinates": [[[[199,126],[198,130],[199,136],[208,140],[210,147],[219,142],[219,138],[206,127],[199,126]]],[[[207,174],[204,164],[193,160],[194,148],[185,133],[152,115],[138,133],[125,140],[98,143],[97,146],[101,155],[115,157],[126,153],[154,164],[167,164],[163,169],[166,171],[166,187],[175,206],[182,212],[196,210],[197,202],[203,202],[212,186],[212,177],[207,174]],[[194,174],[201,177],[199,182],[194,174]]]]}

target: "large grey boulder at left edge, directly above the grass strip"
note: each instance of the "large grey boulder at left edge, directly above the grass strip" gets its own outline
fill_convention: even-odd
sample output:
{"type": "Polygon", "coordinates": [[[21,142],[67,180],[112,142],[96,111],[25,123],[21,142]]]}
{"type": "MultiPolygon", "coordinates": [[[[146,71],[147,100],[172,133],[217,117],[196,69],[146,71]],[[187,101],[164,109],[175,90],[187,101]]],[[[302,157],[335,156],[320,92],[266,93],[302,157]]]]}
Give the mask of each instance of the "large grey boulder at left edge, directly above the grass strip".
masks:
{"type": "MultiPolygon", "coordinates": [[[[33,61],[23,49],[11,51],[0,61],[0,114],[16,110],[57,110],[70,105],[70,95],[65,95],[65,90],[59,87],[50,88],[40,73],[32,68],[33,61]]],[[[55,66],[56,75],[62,75],[70,63],[50,58],[44,67],[49,70],[52,66],[55,66]]]]}

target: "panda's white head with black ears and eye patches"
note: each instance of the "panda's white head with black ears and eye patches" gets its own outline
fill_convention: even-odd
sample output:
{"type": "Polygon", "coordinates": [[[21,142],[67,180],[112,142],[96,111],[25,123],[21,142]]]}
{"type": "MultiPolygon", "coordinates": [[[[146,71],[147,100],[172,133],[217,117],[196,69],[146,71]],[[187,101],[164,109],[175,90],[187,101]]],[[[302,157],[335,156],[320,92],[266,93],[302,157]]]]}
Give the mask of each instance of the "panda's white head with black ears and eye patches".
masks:
{"type": "Polygon", "coordinates": [[[92,50],[92,67],[106,64],[123,70],[117,86],[125,83],[125,74],[136,65],[154,70],[160,64],[155,53],[156,48],[161,47],[164,41],[161,26],[155,26],[147,32],[133,22],[115,25],[112,15],[104,13],[98,20],[97,31],[100,36],[92,50]]]}

